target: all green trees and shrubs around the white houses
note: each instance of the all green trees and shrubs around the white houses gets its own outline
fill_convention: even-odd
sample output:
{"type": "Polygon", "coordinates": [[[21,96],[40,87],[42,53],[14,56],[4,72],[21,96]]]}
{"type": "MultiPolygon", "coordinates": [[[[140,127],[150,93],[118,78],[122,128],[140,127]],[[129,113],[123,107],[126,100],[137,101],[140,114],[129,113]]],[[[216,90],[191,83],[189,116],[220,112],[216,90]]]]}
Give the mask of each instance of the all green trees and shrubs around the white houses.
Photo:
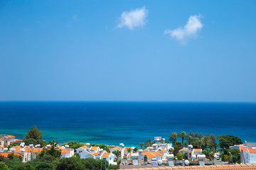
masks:
{"type": "MultiPolygon", "coordinates": [[[[221,135],[218,136],[219,144],[216,142],[215,135],[209,135],[208,133],[203,136],[202,133],[196,132],[194,134],[192,131],[186,132],[172,132],[169,138],[169,141],[173,143],[174,149],[170,149],[169,153],[173,153],[179,160],[187,159],[187,155],[183,152],[178,152],[183,147],[188,147],[188,145],[193,145],[194,148],[203,149],[203,154],[206,154],[206,158],[213,160],[214,153],[217,151],[217,147],[220,146],[218,151],[221,151],[221,157],[224,161],[232,161],[230,154],[233,156],[233,162],[240,163],[240,152],[238,149],[229,149],[230,146],[242,144],[242,140],[239,137],[233,135],[221,135]],[[181,142],[178,141],[180,137],[181,142]],[[230,152],[230,153],[229,153],[230,152]]],[[[32,159],[30,162],[22,163],[21,156],[17,157],[14,154],[9,154],[8,158],[0,157],[0,169],[7,170],[53,170],[53,169],[119,169],[119,165],[110,166],[105,160],[96,160],[93,158],[80,159],[78,154],[75,154],[70,158],[60,159],[61,152],[58,149],[55,149],[55,146],[58,144],[55,140],[51,142],[46,142],[43,140],[42,132],[39,131],[36,126],[33,126],[31,130],[28,131],[26,137],[23,138],[23,141],[26,145],[38,145],[41,146],[51,145],[50,149],[43,149],[41,153],[38,154],[37,159],[32,159]]],[[[164,142],[164,141],[160,141],[164,142]]],[[[166,141],[168,142],[168,141],[166,141]]],[[[142,147],[151,147],[155,142],[151,139],[147,140],[145,143],[140,142],[139,146],[142,147]]],[[[9,147],[18,145],[14,143],[9,147]]],[[[85,146],[84,143],[80,142],[68,142],[65,145],[69,145],[70,148],[78,149],[78,147],[85,146]]],[[[97,145],[91,144],[90,146],[100,147],[105,149],[107,152],[110,151],[110,148],[107,145],[97,145]]],[[[134,152],[137,151],[137,148],[134,149],[134,152]]],[[[131,149],[128,149],[128,152],[131,152],[131,149]]],[[[113,152],[119,158],[119,152],[113,152]]],[[[119,163],[119,160],[117,159],[119,163]]]]}

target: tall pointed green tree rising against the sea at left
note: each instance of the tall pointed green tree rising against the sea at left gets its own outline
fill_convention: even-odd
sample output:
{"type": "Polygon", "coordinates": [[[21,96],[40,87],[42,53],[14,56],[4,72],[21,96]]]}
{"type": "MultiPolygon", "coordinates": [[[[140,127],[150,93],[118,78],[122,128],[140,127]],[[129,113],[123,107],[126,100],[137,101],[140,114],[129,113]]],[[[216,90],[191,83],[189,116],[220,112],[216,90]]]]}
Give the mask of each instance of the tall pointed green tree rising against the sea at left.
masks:
{"type": "Polygon", "coordinates": [[[46,142],[43,141],[42,131],[39,131],[36,125],[34,125],[31,130],[28,130],[26,137],[23,137],[23,142],[25,142],[26,145],[40,144],[42,147],[46,146],[46,142]]]}

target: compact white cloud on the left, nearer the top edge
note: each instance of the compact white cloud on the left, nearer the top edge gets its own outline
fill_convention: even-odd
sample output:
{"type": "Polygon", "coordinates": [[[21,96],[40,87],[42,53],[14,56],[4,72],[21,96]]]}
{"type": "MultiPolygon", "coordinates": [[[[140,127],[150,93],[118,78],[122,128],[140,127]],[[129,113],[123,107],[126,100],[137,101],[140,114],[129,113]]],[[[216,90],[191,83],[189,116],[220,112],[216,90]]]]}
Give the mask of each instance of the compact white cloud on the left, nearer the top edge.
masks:
{"type": "Polygon", "coordinates": [[[134,29],[135,27],[142,27],[146,23],[147,13],[148,10],[145,8],[145,6],[129,12],[124,11],[120,18],[121,23],[119,23],[117,27],[128,27],[130,30],[134,29]]]}

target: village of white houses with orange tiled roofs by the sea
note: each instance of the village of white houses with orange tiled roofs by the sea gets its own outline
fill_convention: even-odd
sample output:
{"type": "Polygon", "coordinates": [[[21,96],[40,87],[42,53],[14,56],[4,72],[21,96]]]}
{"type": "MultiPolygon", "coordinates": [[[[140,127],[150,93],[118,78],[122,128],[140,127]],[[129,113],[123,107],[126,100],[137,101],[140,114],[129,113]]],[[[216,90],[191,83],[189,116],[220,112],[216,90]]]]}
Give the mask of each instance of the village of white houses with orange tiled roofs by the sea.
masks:
{"type": "MultiPolygon", "coordinates": [[[[16,139],[14,135],[4,135],[0,138],[0,157],[8,159],[10,154],[21,158],[21,162],[30,162],[38,159],[38,155],[44,150],[55,149],[60,152],[61,158],[78,156],[80,159],[93,158],[107,162],[110,165],[119,165],[119,169],[137,169],[152,167],[188,167],[188,166],[224,166],[227,164],[256,164],[256,142],[246,142],[241,145],[229,146],[229,149],[238,149],[240,158],[238,162],[233,162],[235,157],[230,152],[228,162],[222,160],[221,152],[212,152],[213,158],[203,154],[203,149],[193,148],[193,145],[176,149],[164,138],[154,137],[151,146],[138,149],[137,147],[125,147],[123,143],[119,146],[108,146],[108,151],[99,146],[92,146],[85,143],[84,146],[72,148],[69,145],[26,145],[23,140],[16,139]],[[16,146],[11,146],[16,143],[16,146]],[[17,145],[17,143],[19,145],[17,145]],[[11,147],[10,147],[11,146],[11,147]]],[[[101,167],[102,169],[102,167],[101,167]]]]}

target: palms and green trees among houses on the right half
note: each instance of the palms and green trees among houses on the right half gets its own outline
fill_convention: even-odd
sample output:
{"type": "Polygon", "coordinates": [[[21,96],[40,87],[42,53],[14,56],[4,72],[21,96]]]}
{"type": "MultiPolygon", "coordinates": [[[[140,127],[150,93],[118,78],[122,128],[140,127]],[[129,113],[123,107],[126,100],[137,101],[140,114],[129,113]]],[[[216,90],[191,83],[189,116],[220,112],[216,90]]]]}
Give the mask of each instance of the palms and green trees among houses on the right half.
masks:
{"type": "MultiPolygon", "coordinates": [[[[203,154],[206,154],[206,158],[209,160],[214,159],[214,153],[217,151],[223,151],[221,156],[222,160],[224,161],[230,161],[231,157],[229,152],[233,156],[233,162],[240,163],[240,152],[238,149],[229,149],[230,146],[233,145],[240,145],[242,144],[242,140],[240,140],[239,137],[235,137],[233,135],[220,135],[218,137],[215,137],[215,135],[210,135],[209,133],[206,133],[206,135],[203,135],[202,133],[196,132],[193,133],[191,130],[187,132],[171,132],[169,136],[169,141],[172,142],[174,149],[169,149],[169,153],[174,154],[178,158],[178,160],[181,159],[187,159],[186,153],[178,152],[183,147],[188,147],[188,145],[193,145],[193,148],[202,149],[203,154]],[[180,141],[178,141],[180,140],[180,141]],[[217,140],[219,142],[217,142],[217,140]],[[220,147],[221,149],[218,149],[220,147]]],[[[166,141],[166,142],[169,142],[166,141]]],[[[163,141],[160,141],[163,142],[163,141]]],[[[155,142],[151,139],[147,140],[146,142],[140,142],[138,145],[142,148],[143,146],[151,147],[155,142]]]]}

